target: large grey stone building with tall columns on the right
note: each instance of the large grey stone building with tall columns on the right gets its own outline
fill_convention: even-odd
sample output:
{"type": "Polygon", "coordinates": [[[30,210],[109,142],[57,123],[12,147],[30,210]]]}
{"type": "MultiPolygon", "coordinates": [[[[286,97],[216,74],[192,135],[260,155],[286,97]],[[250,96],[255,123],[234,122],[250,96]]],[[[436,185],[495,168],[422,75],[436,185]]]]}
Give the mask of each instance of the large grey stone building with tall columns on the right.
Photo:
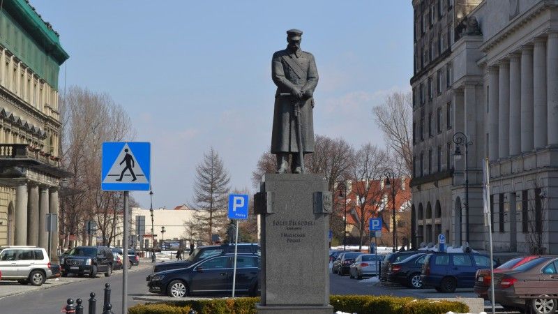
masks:
{"type": "Polygon", "coordinates": [[[412,4],[415,246],[444,233],[449,244],[488,249],[488,158],[495,251],[558,253],[558,3],[412,4]],[[444,32],[451,40],[442,54],[421,57],[444,32]],[[468,158],[454,162],[456,149],[468,158]]]}

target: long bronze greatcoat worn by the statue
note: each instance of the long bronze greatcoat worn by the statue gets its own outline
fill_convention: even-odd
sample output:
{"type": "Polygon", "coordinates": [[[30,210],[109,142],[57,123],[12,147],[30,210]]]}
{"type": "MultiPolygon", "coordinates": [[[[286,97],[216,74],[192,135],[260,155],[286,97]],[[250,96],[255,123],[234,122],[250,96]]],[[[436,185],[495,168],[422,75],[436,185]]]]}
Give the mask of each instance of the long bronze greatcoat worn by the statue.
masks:
{"type": "MultiPolygon", "coordinates": [[[[300,74],[300,71],[299,71],[300,74]]],[[[296,144],[296,118],[293,107],[293,96],[281,96],[281,93],[292,93],[293,90],[307,91],[299,103],[301,105],[301,134],[302,147],[305,153],[314,152],[314,89],[318,83],[318,71],[314,56],[309,52],[299,50],[296,53],[280,50],[273,54],[271,61],[271,76],[277,85],[275,107],[273,110],[273,130],[271,134],[271,154],[298,152],[296,144]],[[303,77],[296,75],[285,58],[292,58],[303,70],[303,77]]]]}

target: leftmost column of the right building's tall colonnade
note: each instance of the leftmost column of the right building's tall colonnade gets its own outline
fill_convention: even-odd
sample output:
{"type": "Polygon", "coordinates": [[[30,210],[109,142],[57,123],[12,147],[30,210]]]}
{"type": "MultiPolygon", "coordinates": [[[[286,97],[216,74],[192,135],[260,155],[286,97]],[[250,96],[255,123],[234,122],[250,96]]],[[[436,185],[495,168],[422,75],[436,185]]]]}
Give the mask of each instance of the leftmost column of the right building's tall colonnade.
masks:
{"type": "Polygon", "coordinates": [[[498,68],[488,68],[488,158],[498,159],[498,68]]]}

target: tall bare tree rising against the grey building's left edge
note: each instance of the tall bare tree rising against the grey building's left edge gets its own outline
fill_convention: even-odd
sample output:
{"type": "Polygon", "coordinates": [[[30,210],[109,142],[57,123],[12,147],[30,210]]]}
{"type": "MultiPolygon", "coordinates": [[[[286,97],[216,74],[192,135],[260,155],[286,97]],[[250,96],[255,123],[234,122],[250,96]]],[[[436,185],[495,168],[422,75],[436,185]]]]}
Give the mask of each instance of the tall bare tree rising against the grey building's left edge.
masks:
{"type": "Polygon", "coordinates": [[[378,124],[393,153],[395,162],[402,165],[402,172],[411,177],[413,169],[412,147],[412,93],[395,92],[386,96],[382,105],[373,109],[378,124]]]}

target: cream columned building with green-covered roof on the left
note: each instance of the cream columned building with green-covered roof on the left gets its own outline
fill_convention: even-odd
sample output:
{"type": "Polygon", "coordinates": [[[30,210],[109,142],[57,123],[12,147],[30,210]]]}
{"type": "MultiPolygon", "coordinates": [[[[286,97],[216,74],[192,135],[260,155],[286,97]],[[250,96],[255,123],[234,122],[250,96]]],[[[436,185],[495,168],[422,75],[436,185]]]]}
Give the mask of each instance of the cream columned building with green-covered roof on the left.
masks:
{"type": "MultiPolygon", "coordinates": [[[[0,246],[48,247],[46,214],[58,214],[59,34],[29,1],[0,10],[0,246]]],[[[52,233],[52,251],[58,232],[52,233]]],[[[52,254],[51,254],[52,255],[52,254]]]]}

